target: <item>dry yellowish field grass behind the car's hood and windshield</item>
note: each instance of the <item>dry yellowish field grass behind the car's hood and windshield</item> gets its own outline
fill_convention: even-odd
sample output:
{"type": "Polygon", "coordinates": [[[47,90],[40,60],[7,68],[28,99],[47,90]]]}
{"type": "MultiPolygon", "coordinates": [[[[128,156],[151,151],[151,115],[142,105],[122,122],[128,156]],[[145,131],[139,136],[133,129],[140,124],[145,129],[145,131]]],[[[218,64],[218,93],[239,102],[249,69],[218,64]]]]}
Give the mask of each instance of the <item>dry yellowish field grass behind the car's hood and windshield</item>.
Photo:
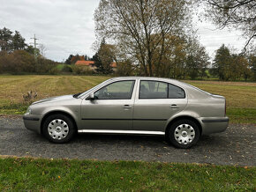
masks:
{"type": "Polygon", "coordinates": [[[108,77],[0,76],[0,100],[20,101],[30,90],[38,92],[38,99],[84,92],[106,79],[108,77]]]}

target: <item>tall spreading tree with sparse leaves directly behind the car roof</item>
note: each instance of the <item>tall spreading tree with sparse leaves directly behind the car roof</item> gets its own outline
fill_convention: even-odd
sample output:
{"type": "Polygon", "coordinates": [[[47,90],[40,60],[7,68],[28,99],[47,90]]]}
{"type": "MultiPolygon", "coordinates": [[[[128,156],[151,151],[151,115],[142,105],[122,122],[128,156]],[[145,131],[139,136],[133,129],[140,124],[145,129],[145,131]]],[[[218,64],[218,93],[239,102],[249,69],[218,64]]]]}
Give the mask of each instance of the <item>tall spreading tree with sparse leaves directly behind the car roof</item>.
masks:
{"type": "Polygon", "coordinates": [[[171,48],[169,35],[184,37],[190,14],[185,0],[101,0],[94,21],[98,39],[117,43],[137,59],[144,75],[154,76],[171,48]]]}

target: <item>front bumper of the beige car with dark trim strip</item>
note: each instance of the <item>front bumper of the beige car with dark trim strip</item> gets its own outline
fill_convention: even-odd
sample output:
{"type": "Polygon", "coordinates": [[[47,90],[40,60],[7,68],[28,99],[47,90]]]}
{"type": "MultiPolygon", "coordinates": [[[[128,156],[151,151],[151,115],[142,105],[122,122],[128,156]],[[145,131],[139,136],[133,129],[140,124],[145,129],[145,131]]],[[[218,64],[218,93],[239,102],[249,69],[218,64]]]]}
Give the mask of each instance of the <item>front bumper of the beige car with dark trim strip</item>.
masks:
{"type": "Polygon", "coordinates": [[[26,129],[33,130],[37,133],[41,133],[41,119],[42,116],[38,114],[23,115],[23,122],[26,129]]]}

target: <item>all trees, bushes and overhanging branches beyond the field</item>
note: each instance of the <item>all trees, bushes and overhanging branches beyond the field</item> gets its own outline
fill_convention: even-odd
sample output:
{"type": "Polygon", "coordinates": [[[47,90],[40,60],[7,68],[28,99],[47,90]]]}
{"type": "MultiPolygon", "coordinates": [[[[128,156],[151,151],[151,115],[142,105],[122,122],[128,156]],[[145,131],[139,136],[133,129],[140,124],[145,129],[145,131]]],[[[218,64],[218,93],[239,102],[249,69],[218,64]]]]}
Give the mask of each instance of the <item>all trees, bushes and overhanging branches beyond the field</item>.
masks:
{"type": "MultiPolygon", "coordinates": [[[[94,61],[97,74],[113,74],[111,63],[117,63],[120,76],[256,80],[255,6],[251,0],[101,0],[94,11],[95,54],[83,59],[94,61]],[[210,60],[192,26],[197,5],[216,26],[244,33],[247,41],[241,53],[232,53],[222,45],[210,60]]],[[[42,71],[55,71],[54,63],[26,45],[17,31],[1,29],[0,48],[0,72],[40,72],[48,65],[42,71]]],[[[73,65],[80,59],[79,55],[70,55],[65,63],[73,65]]]]}

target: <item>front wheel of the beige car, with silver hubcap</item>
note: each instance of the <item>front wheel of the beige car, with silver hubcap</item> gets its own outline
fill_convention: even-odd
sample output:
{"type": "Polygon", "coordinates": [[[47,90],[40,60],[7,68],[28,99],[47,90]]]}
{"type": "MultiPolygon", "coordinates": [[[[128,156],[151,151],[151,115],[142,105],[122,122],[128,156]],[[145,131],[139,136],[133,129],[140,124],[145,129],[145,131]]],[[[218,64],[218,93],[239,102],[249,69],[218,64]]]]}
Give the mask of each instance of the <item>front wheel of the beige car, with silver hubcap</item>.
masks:
{"type": "Polygon", "coordinates": [[[52,143],[69,142],[76,133],[72,119],[64,114],[52,114],[42,124],[43,135],[52,143]]]}

